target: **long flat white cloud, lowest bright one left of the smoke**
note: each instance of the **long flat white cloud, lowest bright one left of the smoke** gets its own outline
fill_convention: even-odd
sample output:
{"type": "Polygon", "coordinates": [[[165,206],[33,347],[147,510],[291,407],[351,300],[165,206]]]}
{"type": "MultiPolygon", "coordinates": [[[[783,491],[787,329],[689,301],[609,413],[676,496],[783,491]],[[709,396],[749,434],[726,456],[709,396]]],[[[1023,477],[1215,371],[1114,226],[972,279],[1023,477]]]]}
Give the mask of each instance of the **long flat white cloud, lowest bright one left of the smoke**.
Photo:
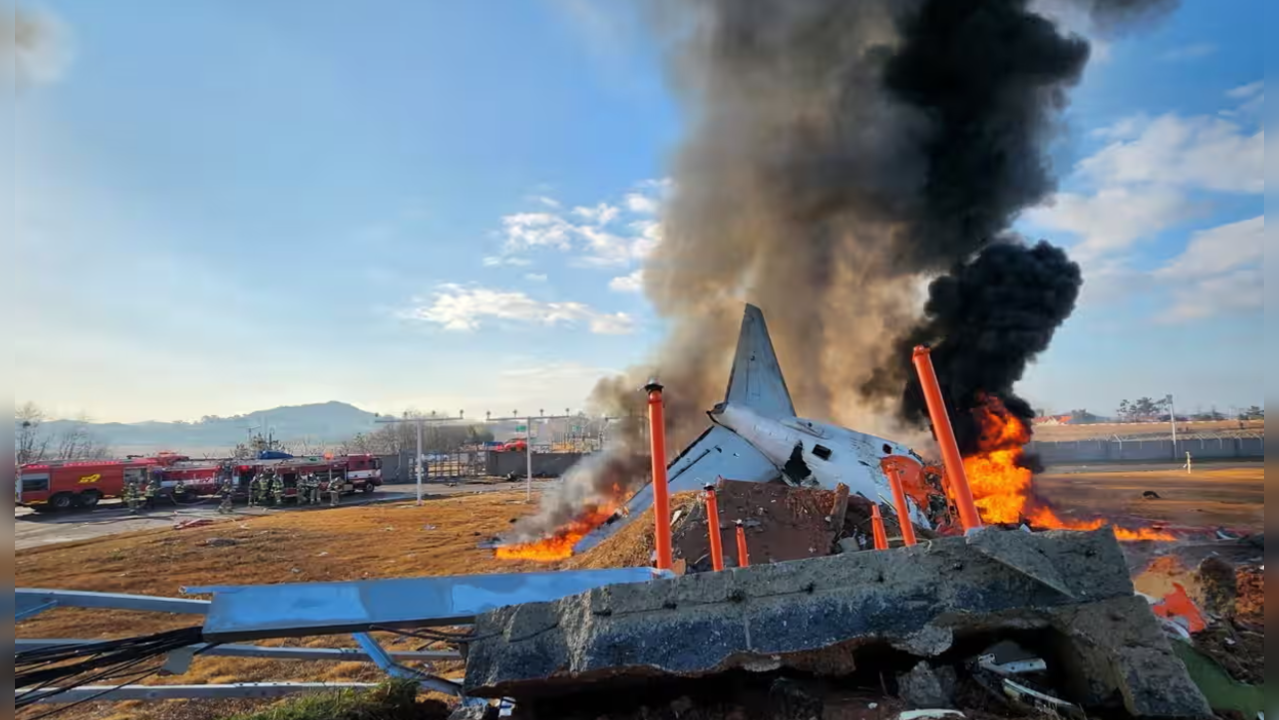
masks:
{"type": "Polygon", "coordinates": [[[576,302],[541,302],[518,290],[445,284],[435,290],[430,302],[417,302],[417,307],[400,315],[453,331],[477,330],[487,320],[546,326],[585,322],[591,333],[601,335],[624,335],[634,327],[634,321],[624,312],[599,312],[576,302]]]}

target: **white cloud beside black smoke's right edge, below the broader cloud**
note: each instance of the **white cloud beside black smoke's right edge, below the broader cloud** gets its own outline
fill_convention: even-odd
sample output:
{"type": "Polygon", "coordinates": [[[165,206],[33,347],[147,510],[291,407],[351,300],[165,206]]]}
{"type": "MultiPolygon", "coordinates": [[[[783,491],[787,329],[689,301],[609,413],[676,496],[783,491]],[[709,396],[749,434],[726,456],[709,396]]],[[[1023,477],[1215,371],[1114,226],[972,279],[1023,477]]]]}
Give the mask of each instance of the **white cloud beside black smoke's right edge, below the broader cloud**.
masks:
{"type": "Polygon", "coordinates": [[[1109,187],[1092,196],[1059,193],[1051,206],[1031,210],[1026,219],[1079,235],[1082,242],[1073,253],[1087,260],[1151,238],[1195,212],[1195,206],[1173,188],[1109,187]]]}

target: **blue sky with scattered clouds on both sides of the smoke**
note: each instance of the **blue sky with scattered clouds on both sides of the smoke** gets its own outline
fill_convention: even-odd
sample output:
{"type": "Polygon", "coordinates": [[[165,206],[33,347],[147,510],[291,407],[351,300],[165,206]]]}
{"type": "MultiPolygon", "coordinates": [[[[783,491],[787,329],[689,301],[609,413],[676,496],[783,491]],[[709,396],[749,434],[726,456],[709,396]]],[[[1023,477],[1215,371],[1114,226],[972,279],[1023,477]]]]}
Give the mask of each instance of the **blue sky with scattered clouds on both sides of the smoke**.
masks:
{"type": "MultiPolygon", "coordinates": [[[[550,412],[660,341],[634,274],[683,118],[623,4],[36,8],[0,151],[18,402],[550,412]]],[[[1088,278],[1037,404],[1261,402],[1261,10],[1187,0],[1076,92],[1019,223],[1088,278]]]]}

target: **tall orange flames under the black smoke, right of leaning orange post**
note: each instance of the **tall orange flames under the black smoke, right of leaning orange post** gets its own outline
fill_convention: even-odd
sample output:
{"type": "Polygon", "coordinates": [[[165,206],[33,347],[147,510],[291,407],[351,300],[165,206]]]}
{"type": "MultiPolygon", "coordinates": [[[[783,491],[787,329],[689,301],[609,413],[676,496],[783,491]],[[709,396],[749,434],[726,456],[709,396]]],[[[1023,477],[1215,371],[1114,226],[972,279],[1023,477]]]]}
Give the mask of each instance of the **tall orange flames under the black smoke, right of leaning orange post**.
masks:
{"type": "MultiPolygon", "coordinates": [[[[1030,523],[1050,529],[1097,529],[1106,526],[1104,519],[1071,520],[1058,517],[1035,496],[1035,473],[1023,467],[1026,444],[1031,431],[1026,423],[1008,412],[999,398],[984,396],[973,413],[980,423],[978,446],[981,451],[964,458],[963,467],[972,489],[973,503],[981,519],[993,524],[1030,523]]],[[[1177,540],[1156,528],[1114,528],[1120,541],[1177,540]]]]}

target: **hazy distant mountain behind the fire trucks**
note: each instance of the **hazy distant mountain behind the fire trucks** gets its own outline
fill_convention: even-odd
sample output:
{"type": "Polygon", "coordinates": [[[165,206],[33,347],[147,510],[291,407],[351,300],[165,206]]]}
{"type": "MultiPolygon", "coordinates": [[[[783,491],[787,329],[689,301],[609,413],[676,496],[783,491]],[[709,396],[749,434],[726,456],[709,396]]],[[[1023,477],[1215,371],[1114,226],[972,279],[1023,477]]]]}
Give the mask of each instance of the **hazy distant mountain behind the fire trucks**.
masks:
{"type": "MultiPolygon", "coordinates": [[[[376,428],[375,413],[365,412],[347,403],[318,403],[257,411],[235,417],[203,417],[196,422],[91,422],[90,431],[100,442],[114,449],[174,450],[194,453],[214,448],[234,448],[248,440],[249,434],[266,435],[276,440],[311,440],[336,442],[348,440],[357,432],[376,428]]],[[[42,430],[58,436],[79,425],[75,421],[56,419],[43,423],[42,430]]]]}

